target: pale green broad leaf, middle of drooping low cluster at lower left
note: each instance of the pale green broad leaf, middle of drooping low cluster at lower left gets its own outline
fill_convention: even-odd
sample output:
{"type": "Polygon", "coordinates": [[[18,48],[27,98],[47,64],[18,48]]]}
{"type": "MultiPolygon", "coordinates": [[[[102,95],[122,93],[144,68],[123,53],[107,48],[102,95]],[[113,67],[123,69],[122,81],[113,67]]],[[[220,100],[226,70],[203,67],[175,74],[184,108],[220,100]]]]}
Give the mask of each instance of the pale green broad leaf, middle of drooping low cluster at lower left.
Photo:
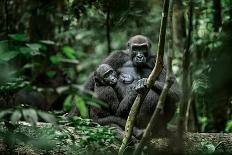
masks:
{"type": "Polygon", "coordinates": [[[32,125],[36,125],[38,122],[38,116],[34,109],[23,109],[23,117],[25,121],[29,122],[32,125]]]}

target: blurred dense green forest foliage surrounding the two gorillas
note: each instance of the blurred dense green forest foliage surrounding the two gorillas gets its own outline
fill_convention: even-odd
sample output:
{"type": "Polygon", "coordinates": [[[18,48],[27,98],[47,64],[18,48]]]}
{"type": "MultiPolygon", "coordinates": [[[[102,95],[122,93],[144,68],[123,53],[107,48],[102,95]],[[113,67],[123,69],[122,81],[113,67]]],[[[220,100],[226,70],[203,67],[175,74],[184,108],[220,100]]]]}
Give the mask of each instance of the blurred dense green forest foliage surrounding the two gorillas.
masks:
{"type": "MultiPolygon", "coordinates": [[[[186,0],[183,3],[176,0],[173,9],[173,70],[178,82],[182,77],[188,5],[186,0]]],[[[85,80],[111,51],[125,49],[128,38],[135,34],[148,36],[155,53],[161,9],[162,2],[159,0],[1,0],[2,122],[9,130],[15,130],[20,120],[32,124],[38,120],[55,124],[62,122],[60,117],[55,118],[50,113],[34,110],[28,105],[22,107],[21,103],[17,103],[17,93],[21,90],[42,94],[46,100],[46,107],[42,110],[58,110],[58,116],[70,111],[73,104],[84,118],[88,118],[88,104],[105,106],[101,101],[89,97],[91,92],[83,90],[85,80]],[[15,107],[9,109],[9,105],[15,107]]],[[[193,23],[188,130],[231,132],[232,1],[194,1],[193,23]]],[[[179,109],[176,115],[178,112],[179,109]]],[[[176,126],[176,120],[173,119],[170,127],[176,126]]],[[[66,121],[72,125],[75,122],[66,121]]],[[[86,127],[86,124],[93,123],[90,120],[81,122],[73,126],[86,131],[80,140],[80,145],[84,145],[86,150],[87,144],[96,144],[99,149],[103,146],[101,141],[115,140],[111,128],[94,124],[95,130],[86,127]]],[[[5,129],[0,136],[4,137],[6,132],[9,137],[12,136],[5,129]]],[[[60,136],[70,136],[67,131],[61,133],[60,136]]],[[[12,142],[9,143],[11,145],[12,142]]],[[[71,149],[73,145],[70,143],[70,148],[67,148],[71,149]]]]}

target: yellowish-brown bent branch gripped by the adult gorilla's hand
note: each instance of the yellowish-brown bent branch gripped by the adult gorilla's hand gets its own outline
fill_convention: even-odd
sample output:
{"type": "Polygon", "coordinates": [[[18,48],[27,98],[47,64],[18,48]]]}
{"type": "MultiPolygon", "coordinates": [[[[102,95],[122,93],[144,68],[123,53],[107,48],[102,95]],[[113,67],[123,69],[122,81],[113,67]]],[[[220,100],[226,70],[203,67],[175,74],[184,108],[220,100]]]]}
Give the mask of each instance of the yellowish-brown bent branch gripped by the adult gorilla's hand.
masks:
{"type": "Polygon", "coordinates": [[[125,135],[122,141],[122,145],[119,149],[119,155],[122,155],[129,139],[131,138],[133,126],[135,123],[135,116],[137,115],[138,109],[143,102],[144,98],[146,97],[149,89],[155,83],[156,79],[159,77],[162,69],[163,69],[163,55],[164,55],[164,44],[165,44],[165,35],[166,35],[166,25],[167,25],[167,17],[168,17],[168,7],[169,7],[169,0],[164,0],[163,4],[163,13],[162,13],[162,21],[160,27],[160,35],[159,35],[159,43],[158,43],[158,52],[156,57],[155,67],[152,70],[151,74],[147,79],[147,87],[148,89],[142,93],[138,94],[129,113],[127,118],[126,126],[125,126],[125,135]]]}

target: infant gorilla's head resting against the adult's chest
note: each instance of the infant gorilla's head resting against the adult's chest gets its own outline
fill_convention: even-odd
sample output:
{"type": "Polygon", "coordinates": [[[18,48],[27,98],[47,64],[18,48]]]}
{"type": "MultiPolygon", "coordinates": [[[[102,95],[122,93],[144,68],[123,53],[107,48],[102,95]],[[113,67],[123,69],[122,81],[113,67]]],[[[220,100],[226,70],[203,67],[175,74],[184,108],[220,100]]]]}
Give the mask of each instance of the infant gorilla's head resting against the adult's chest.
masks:
{"type": "Polygon", "coordinates": [[[114,86],[118,81],[118,77],[110,65],[101,64],[94,72],[94,80],[98,85],[114,86]]]}

